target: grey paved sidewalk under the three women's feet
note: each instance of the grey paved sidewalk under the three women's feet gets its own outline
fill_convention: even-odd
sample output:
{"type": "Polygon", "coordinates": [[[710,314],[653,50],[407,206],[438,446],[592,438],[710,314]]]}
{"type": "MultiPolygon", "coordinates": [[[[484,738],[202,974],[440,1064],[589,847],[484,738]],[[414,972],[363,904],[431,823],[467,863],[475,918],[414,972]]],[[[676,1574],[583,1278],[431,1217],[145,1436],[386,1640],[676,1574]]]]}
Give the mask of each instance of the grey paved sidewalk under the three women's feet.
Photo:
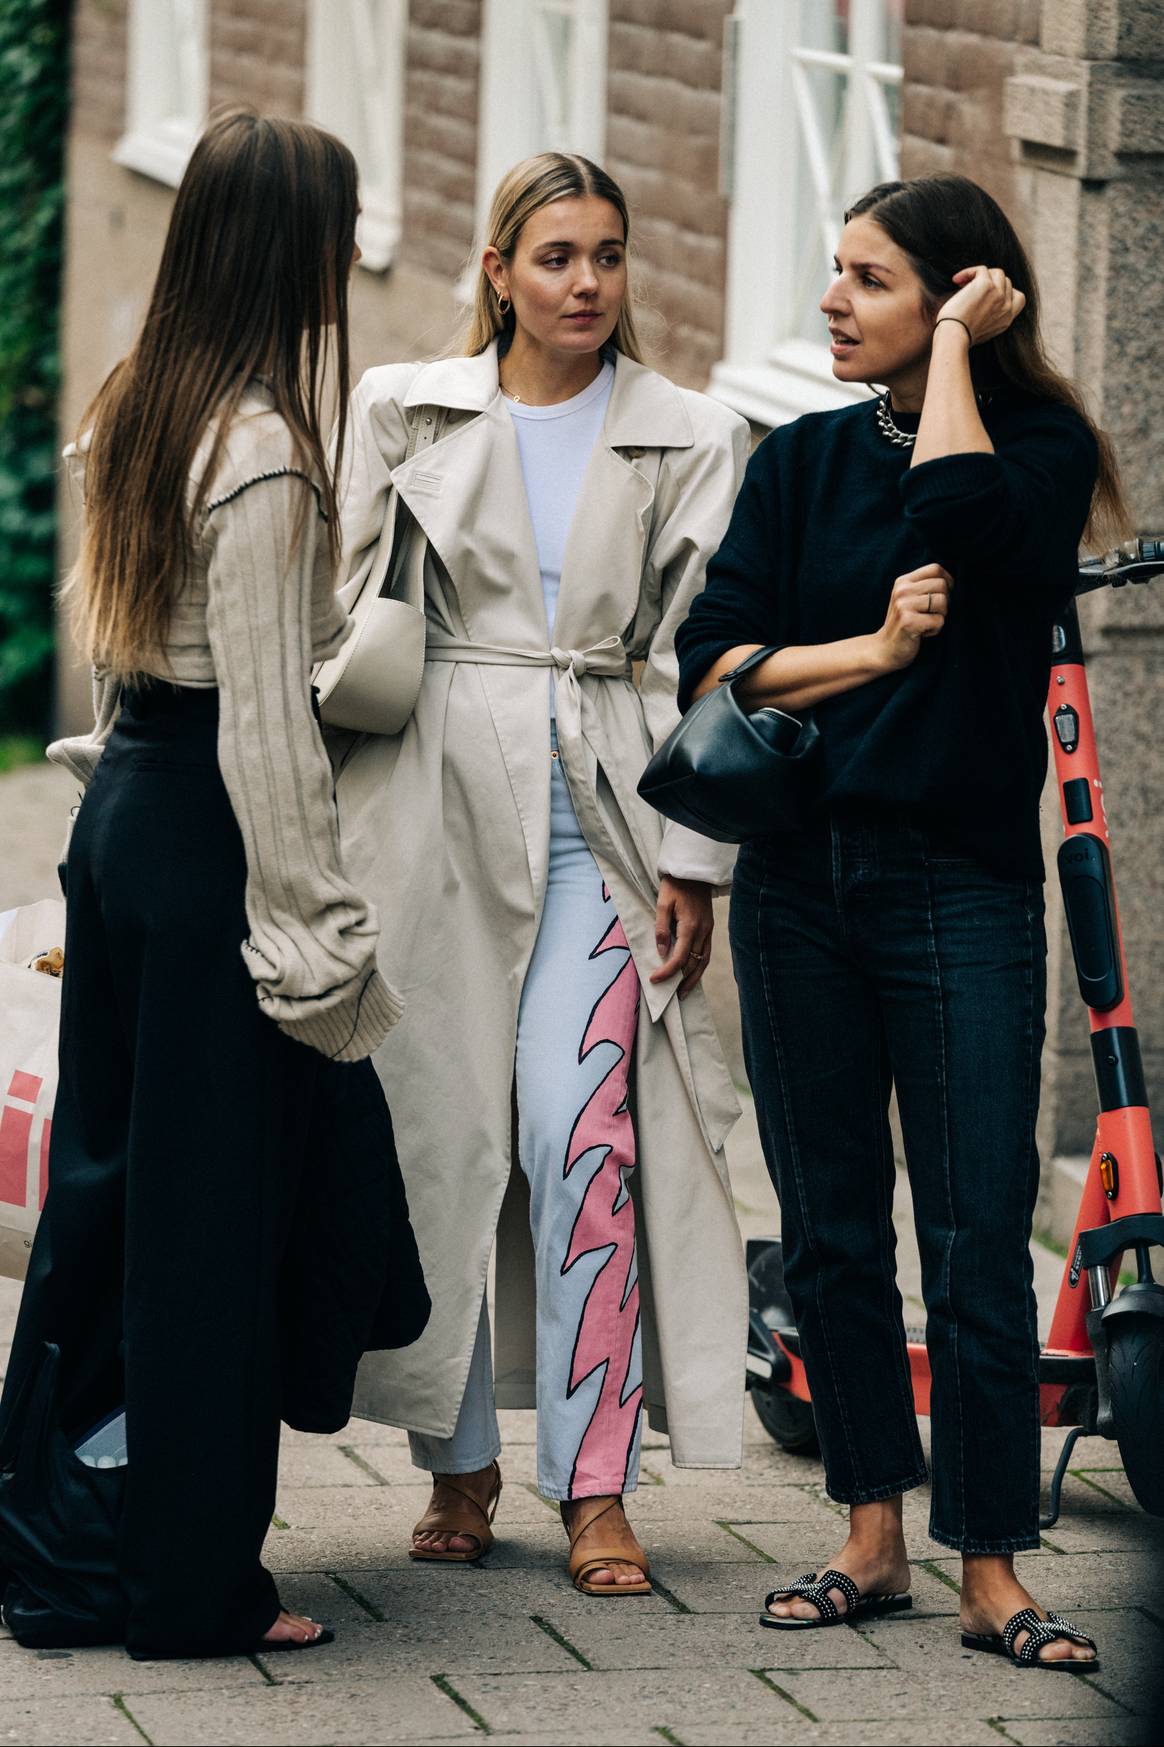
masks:
{"type": "MultiPolygon", "coordinates": [[[[70,798],[59,772],[0,779],[0,908],[51,893],[70,798]]],[[[776,1205],[750,1111],[729,1155],[745,1233],[771,1233],[776,1205]]],[[[907,1315],[919,1319],[904,1193],[898,1230],[907,1315]]],[[[1061,1267],[1036,1246],[1043,1322],[1061,1267]]],[[[17,1303],[19,1286],[0,1282],[0,1342],[17,1303]]],[[[738,1473],[673,1469],[666,1441],[647,1436],[631,1515],[657,1586],[622,1604],[568,1585],[556,1509],[537,1495],[533,1415],[503,1415],[505,1494],[482,1567],[409,1564],[428,1487],[400,1433],[357,1420],[327,1440],[287,1434],[267,1560],[285,1602],[329,1621],[337,1642],[297,1656],[135,1663],[115,1649],[33,1654],[0,1639],[0,1742],[1084,1747],[1145,1738],[1138,1710],[1164,1660],[1164,1544],[1161,1525],[1136,1509],[1113,1445],[1077,1447],[1059,1523],[1038,1553],[1019,1558],[1038,1599],[1092,1626],[1101,1644],[1098,1675],[1050,1679],[961,1649],[958,1560],[926,1539],[925,1490],[905,1501],[909,1616],[797,1637],[764,1632],[766,1592],[827,1562],[844,1523],[816,1460],[779,1452],[750,1406],[745,1427],[738,1473]]],[[[1059,1433],[1045,1434],[1047,1467],[1059,1443],[1059,1433]]]]}

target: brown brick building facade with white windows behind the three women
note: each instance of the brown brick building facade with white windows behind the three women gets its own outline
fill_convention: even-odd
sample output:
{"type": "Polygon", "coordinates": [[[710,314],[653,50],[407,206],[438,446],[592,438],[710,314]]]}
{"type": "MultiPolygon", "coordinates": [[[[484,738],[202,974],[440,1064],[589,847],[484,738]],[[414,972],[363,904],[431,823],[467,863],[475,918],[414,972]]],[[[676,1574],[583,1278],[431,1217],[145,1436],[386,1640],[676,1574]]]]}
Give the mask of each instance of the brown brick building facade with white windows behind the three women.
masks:
{"type": "MultiPolygon", "coordinates": [[[[759,428],[844,398],[814,316],[844,199],[898,166],[970,173],[1031,245],[1049,342],[1120,445],[1140,526],[1164,526],[1164,425],[1145,393],[1147,348],[1164,327],[1154,266],[1164,0],[75,0],[73,10],[65,428],[133,341],[191,138],[215,105],[246,101],[311,114],[357,150],[372,269],[353,288],[357,369],[453,341],[488,185],[526,150],[561,143],[601,155],[626,187],[654,360],[759,428]]],[[[1164,760],[1148,708],[1164,589],[1092,597],[1087,638],[1143,985],[1164,945],[1152,898],[1164,760]]],[[[65,722],[87,709],[70,659],[59,704],[65,722]]],[[[1043,1143],[1071,1157],[1091,1144],[1092,1088],[1052,922],[1043,1143]]],[[[1159,1087],[1164,991],[1145,996],[1159,1087]]]]}

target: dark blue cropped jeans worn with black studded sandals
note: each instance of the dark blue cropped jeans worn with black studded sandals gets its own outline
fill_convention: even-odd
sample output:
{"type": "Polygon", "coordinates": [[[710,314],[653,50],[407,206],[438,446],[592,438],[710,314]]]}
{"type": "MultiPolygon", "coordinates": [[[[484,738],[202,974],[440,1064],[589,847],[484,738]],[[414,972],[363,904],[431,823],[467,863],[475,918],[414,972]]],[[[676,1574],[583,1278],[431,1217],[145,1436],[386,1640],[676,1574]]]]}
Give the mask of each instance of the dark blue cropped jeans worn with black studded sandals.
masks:
{"type": "Polygon", "coordinates": [[[1038,1546],[1031,1214],[1042,889],[907,825],[746,844],[731,908],[745,1059],[828,1492],[926,1478],[895,1279],[897,1088],[933,1373],[935,1541],[1038,1546]]]}

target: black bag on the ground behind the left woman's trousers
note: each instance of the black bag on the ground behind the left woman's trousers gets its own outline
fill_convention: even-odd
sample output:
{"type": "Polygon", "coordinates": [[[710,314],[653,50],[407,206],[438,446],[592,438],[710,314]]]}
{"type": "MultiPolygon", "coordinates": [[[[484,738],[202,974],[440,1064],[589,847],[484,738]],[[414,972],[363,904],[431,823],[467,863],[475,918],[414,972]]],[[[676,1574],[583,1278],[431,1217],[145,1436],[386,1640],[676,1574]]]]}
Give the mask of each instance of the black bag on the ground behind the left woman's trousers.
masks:
{"type": "Polygon", "coordinates": [[[58,1419],[59,1347],[44,1345],[28,1398],[0,1452],[3,1623],[31,1649],[121,1644],[117,1574],[124,1467],[86,1467],[58,1419]]]}

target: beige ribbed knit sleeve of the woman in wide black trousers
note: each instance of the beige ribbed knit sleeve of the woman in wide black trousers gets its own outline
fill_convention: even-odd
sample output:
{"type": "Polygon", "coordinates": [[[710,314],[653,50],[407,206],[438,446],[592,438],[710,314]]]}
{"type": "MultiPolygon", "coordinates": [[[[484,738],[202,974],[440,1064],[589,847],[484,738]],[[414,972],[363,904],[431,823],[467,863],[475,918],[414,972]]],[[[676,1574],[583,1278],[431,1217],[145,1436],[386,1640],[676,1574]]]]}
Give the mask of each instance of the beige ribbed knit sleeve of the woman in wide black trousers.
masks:
{"type": "Polygon", "coordinates": [[[341,870],[332,772],[311,713],[322,533],[315,489],[294,472],[211,505],[206,629],[218,763],[246,851],[243,959],[280,1031],[353,1062],[402,1003],[376,970],[376,912],[341,870]]]}

